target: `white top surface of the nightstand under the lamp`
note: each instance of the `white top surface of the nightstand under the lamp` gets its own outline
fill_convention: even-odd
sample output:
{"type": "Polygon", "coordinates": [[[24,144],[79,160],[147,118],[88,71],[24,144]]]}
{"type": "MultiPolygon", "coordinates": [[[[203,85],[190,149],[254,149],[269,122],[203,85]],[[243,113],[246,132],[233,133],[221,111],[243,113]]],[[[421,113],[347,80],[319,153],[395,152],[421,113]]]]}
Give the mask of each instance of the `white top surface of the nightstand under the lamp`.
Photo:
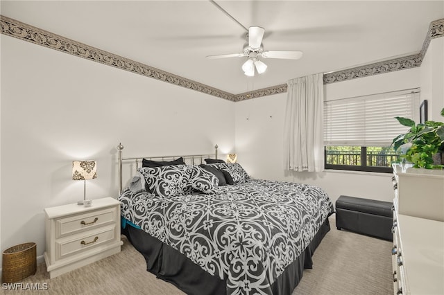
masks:
{"type": "Polygon", "coordinates": [[[76,203],[76,204],[67,204],[62,206],[45,208],[44,212],[46,213],[46,216],[49,219],[51,219],[71,214],[86,213],[88,211],[94,211],[101,208],[117,206],[119,204],[120,202],[117,201],[117,199],[113,199],[112,197],[105,197],[103,199],[93,199],[92,204],[89,207],[78,205],[76,203]]]}

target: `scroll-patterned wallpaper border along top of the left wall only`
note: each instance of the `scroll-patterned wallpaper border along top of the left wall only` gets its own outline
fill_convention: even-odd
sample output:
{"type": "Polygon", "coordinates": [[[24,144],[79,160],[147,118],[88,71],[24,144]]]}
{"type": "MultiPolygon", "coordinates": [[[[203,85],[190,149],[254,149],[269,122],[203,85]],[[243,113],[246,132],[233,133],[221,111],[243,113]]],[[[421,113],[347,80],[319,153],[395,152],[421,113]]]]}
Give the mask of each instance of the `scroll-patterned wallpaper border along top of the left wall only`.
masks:
{"type": "Polygon", "coordinates": [[[135,62],[134,60],[129,60],[128,58],[121,57],[119,55],[102,51],[98,48],[94,48],[60,35],[50,33],[46,30],[41,30],[40,28],[35,28],[34,26],[24,24],[20,21],[16,21],[15,19],[4,17],[3,15],[0,15],[0,29],[1,33],[4,35],[16,37],[27,42],[56,49],[57,51],[83,57],[87,60],[92,60],[108,66],[114,66],[118,69],[130,71],[139,75],[145,75],[150,78],[155,78],[157,80],[176,84],[181,87],[234,101],[234,95],[231,93],[153,68],[152,66],[148,66],[140,62],[135,62]]]}

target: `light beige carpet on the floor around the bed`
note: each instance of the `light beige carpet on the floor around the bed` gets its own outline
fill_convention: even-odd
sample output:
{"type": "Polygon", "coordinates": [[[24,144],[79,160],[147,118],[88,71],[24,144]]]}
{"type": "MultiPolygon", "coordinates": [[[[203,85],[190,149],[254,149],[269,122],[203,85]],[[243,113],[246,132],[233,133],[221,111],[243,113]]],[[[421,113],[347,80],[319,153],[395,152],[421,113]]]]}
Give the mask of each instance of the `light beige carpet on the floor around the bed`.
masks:
{"type": "MultiPolygon", "coordinates": [[[[332,230],[314,253],[313,269],[306,269],[292,295],[393,294],[391,242],[332,230]]],[[[44,263],[21,283],[47,284],[47,290],[5,291],[2,294],[184,294],[146,271],[145,260],[123,238],[121,253],[50,279],[44,263]]]]}

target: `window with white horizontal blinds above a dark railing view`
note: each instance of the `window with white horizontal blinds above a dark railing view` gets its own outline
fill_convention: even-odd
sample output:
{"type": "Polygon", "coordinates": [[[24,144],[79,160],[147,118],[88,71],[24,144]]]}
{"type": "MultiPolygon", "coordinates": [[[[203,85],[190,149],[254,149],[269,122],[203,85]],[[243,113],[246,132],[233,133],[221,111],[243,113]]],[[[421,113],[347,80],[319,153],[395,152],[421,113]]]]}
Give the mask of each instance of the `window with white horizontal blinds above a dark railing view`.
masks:
{"type": "Polygon", "coordinates": [[[325,169],[392,172],[390,146],[407,131],[395,116],[418,118],[419,89],[324,103],[325,169]]]}

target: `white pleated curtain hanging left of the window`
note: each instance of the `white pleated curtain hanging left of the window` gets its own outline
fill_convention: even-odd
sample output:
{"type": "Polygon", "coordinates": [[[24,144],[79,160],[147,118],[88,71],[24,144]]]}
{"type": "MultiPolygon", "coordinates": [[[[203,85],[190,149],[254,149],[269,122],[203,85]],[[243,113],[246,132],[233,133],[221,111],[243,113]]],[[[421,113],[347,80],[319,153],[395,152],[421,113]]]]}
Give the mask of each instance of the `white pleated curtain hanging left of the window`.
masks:
{"type": "Polygon", "coordinates": [[[323,171],[323,74],[289,80],[284,123],[284,168],[323,171]]]}

